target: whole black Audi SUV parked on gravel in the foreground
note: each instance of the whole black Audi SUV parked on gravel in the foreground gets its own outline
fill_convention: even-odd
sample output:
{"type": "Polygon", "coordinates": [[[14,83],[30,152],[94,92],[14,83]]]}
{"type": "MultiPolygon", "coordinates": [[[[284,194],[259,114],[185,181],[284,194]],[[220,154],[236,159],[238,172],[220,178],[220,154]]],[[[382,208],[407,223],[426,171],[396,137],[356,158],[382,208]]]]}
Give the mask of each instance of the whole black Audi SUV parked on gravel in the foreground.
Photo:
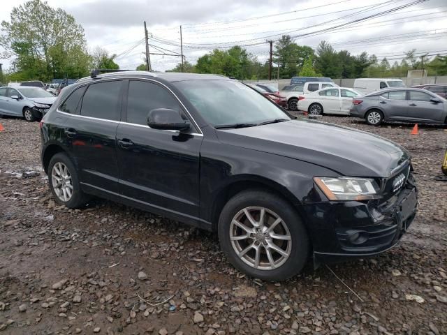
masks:
{"type": "Polygon", "coordinates": [[[93,74],[61,92],[41,137],[59,204],[96,195],[217,232],[237,269],[269,281],[387,251],[416,215],[404,148],[297,120],[219,75],[93,74]]]}

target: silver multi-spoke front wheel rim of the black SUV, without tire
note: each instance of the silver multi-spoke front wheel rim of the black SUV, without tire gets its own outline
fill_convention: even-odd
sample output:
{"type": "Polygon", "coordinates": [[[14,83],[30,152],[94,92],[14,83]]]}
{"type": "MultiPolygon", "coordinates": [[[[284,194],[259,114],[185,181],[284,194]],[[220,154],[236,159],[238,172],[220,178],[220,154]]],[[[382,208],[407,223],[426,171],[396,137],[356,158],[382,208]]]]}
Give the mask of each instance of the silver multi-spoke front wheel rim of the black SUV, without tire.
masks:
{"type": "Polygon", "coordinates": [[[277,269],[291,255],[292,237],[286,223],[265,207],[246,207],[238,211],[229,233],[237,257],[254,269],[277,269]]]}

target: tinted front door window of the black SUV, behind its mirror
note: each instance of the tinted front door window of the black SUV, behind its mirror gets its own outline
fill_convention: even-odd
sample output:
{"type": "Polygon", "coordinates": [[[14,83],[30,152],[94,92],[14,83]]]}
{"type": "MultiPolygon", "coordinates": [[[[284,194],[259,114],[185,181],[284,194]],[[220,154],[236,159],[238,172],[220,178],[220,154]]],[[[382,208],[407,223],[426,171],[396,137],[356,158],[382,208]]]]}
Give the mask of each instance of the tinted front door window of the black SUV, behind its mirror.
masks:
{"type": "Polygon", "coordinates": [[[152,82],[132,80],[127,98],[127,122],[147,124],[147,114],[156,108],[180,111],[179,101],[168,89],[152,82]]]}

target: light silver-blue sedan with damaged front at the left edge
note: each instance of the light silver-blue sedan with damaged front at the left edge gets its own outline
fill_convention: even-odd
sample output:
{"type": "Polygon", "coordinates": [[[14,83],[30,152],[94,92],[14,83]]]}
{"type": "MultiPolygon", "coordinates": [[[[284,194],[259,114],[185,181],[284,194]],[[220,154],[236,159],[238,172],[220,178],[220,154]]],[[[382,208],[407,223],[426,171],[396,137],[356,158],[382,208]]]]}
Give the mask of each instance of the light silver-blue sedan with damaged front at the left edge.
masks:
{"type": "Polygon", "coordinates": [[[56,97],[38,87],[0,87],[0,115],[40,119],[50,109],[56,97]]]}

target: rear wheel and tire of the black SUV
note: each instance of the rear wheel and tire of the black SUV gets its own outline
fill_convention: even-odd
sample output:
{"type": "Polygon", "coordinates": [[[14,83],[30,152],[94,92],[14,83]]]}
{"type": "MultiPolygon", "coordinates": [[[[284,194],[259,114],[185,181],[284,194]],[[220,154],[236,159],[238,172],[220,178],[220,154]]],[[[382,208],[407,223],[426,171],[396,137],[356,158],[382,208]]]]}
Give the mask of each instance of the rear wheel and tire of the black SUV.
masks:
{"type": "Polygon", "coordinates": [[[76,209],[83,207],[89,198],[80,188],[78,172],[66,154],[52,156],[48,165],[48,181],[54,200],[58,204],[76,209]]]}

